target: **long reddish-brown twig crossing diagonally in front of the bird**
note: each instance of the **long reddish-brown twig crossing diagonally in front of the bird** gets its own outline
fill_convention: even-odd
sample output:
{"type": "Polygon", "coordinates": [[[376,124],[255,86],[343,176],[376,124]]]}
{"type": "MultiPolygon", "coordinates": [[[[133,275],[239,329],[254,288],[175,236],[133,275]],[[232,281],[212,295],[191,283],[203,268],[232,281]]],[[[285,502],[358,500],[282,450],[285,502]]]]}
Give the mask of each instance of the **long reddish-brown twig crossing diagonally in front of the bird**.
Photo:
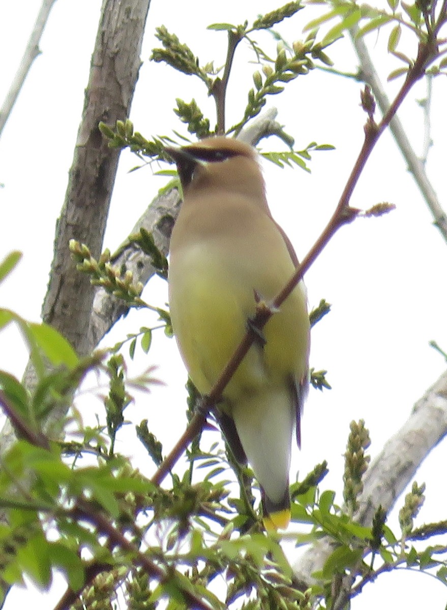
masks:
{"type": "MultiPolygon", "coordinates": [[[[447,2],[447,0],[445,0],[445,2],[447,2]]],[[[349,207],[349,200],[351,199],[352,192],[358,182],[358,179],[360,178],[363,167],[365,167],[365,163],[368,160],[372,149],[376,145],[377,140],[379,139],[380,135],[382,135],[383,131],[385,131],[388,124],[390,124],[391,118],[393,118],[399,106],[402,104],[402,101],[404,101],[410,88],[415,84],[416,81],[418,81],[418,79],[420,79],[421,76],[423,76],[426,66],[432,59],[432,52],[433,47],[430,41],[425,44],[420,43],[416,61],[412,69],[407,74],[407,78],[405,79],[405,82],[402,85],[398,95],[388,109],[388,112],[382,118],[382,121],[376,125],[372,122],[371,115],[369,116],[365,125],[365,140],[363,142],[362,149],[358,154],[357,161],[355,162],[351,175],[346,182],[346,186],[344,187],[343,193],[341,194],[332,218],[330,218],[329,223],[319,236],[318,240],[316,240],[307,256],[305,256],[305,258],[302,260],[302,263],[298,265],[291,279],[285,285],[283,290],[274,298],[271,307],[263,307],[262,309],[258,309],[256,311],[253,324],[250,325],[250,328],[245,333],[245,336],[242,338],[241,343],[239,343],[233,357],[231,357],[224,371],[222,371],[222,374],[220,375],[219,379],[217,379],[216,384],[214,384],[208,397],[205,398],[202,409],[200,409],[200,412],[197,412],[197,414],[192,417],[191,422],[187,426],[183,435],[151,479],[153,483],[161,483],[170,470],[172,470],[173,465],[180,458],[181,454],[183,454],[187,445],[202,429],[209,409],[211,409],[214,404],[219,402],[222,392],[224,392],[225,387],[227,386],[231,377],[234,375],[234,371],[236,371],[236,368],[238,368],[245,354],[247,354],[250,346],[255,340],[255,332],[253,327],[262,329],[264,325],[266,325],[269,318],[271,318],[271,316],[274,314],[274,311],[279,309],[282,303],[293,291],[294,287],[296,287],[306,271],[308,271],[319,254],[321,254],[322,250],[325,248],[327,243],[329,243],[330,239],[332,239],[336,231],[338,231],[343,224],[351,222],[357,216],[358,210],[349,207]]]]}

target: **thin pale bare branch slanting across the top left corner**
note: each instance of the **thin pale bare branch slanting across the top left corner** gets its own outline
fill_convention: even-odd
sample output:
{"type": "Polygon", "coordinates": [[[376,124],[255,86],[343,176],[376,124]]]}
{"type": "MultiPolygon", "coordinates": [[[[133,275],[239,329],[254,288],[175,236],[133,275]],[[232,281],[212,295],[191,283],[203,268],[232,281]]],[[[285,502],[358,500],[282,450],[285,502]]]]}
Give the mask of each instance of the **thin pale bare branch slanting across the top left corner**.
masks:
{"type": "Polygon", "coordinates": [[[26,43],[26,48],[23,57],[20,60],[18,70],[16,71],[9,91],[6,94],[3,105],[0,109],[0,137],[21,88],[23,87],[23,83],[25,82],[32,62],[34,62],[35,58],[40,55],[39,41],[42,37],[43,30],[45,29],[46,22],[48,21],[49,12],[53,7],[54,2],[56,2],[56,0],[42,0],[42,5],[32,28],[31,35],[26,43]]]}

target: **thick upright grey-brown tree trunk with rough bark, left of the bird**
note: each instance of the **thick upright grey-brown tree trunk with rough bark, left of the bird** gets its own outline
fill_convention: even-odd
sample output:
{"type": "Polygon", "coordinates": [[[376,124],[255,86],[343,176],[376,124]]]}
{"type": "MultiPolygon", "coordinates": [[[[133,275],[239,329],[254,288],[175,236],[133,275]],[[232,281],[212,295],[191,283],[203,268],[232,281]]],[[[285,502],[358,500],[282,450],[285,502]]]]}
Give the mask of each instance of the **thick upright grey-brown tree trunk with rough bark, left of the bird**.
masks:
{"type": "Polygon", "coordinates": [[[95,289],[76,270],[68,242],[86,243],[95,257],[101,252],[119,152],[108,148],[98,123],[114,124],[129,115],[149,5],[150,0],[103,1],[73,165],[56,226],[42,318],[80,356],[89,353],[86,337],[95,289]]]}

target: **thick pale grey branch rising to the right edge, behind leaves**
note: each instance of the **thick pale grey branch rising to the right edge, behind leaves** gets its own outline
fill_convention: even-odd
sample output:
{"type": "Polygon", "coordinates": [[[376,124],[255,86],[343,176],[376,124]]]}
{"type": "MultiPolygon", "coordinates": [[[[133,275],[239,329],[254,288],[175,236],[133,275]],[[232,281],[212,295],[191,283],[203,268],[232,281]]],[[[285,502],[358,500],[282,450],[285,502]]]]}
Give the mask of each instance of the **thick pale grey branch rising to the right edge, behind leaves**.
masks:
{"type": "MultiPolygon", "coordinates": [[[[447,371],[413,407],[401,429],[383,446],[365,474],[360,508],[354,515],[359,523],[372,525],[379,506],[389,512],[410,483],[430,451],[447,434],[447,371]]],[[[312,574],[321,570],[334,550],[329,538],[319,540],[294,566],[297,580],[304,587],[313,583],[312,574]]]]}

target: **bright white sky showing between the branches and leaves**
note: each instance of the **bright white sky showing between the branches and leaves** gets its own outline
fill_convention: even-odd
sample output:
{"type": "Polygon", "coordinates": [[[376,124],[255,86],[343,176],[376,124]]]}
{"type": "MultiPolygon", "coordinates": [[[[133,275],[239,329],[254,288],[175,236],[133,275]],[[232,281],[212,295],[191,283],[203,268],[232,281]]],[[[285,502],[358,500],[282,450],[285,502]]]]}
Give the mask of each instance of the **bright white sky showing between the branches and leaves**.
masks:
{"type": "MultiPolygon", "coordinates": [[[[3,4],[0,99],[9,87],[40,2],[3,4]]],[[[151,48],[159,46],[153,37],[156,26],[165,24],[175,32],[202,63],[215,59],[220,65],[225,60],[225,34],[206,31],[205,27],[216,21],[250,21],[276,4],[273,0],[227,0],[224,4],[153,0],[142,52],[144,63],[131,112],[136,129],[147,137],[170,134],[172,128],[184,132],[171,110],[178,96],[186,101],[194,97],[202,110],[214,117],[213,102],[206,98],[200,82],[148,62],[151,48]]],[[[100,0],[56,2],[40,45],[42,56],[32,66],[0,141],[0,182],[5,185],[0,190],[0,257],[11,249],[24,253],[20,267],[0,286],[0,306],[11,307],[31,320],[38,320],[48,281],[54,226],[64,201],[100,5],[100,0]]],[[[310,18],[306,13],[307,10],[302,11],[283,23],[280,31],[287,40],[303,37],[302,27],[310,18]]],[[[256,39],[261,45],[274,48],[267,34],[256,35],[256,39]]],[[[368,39],[382,74],[398,66],[384,51],[386,41],[385,32],[368,39]]],[[[355,70],[348,41],[336,43],[328,53],[336,67],[355,70]]],[[[414,55],[414,49],[409,53],[414,55]]],[[[252,87],[255,66],[248,63],[251,59],[241,45],[228,88],[228,125],[239,117],[245,91],[252,87]]],[[[400,81],[388,84],[389,94],[393,95],[399,85],[400,81]]],[[[434,146],[427,171],[441,201],[446,201],[446,93],[446,79],[436,79],[431,132],[434,146]]],[[[418,153],[423,146],[423,115],[415,100],[424,95],[425,85],[420,83],[399,112],[418,153]]],[[[335,151],[314,154],[311,174],[265,167],[272,212],[288,232],[300,258],[329,219],[360,150],[365,115],[359,107],[359,96],[360,85],[354,81],[314,70],[306,79],[299,77],[289,84],[284,95],[272,96],[268,101],[267,107],[277,105],[278,120],[296,137],[298,149],[313,140],[336,146],[335,151]]],[[[263,149],[275,150],[280,145],[272,139],[263,142],[263,149]]],[[[148,168],[129,174],[129,168],[136,164],[135,157],[122,155],[105,240],[112,250],[125,239],[164,184],[164,179],[153,177],[148,168]]],[[[333,389],[324,393],[310,391],[302,428],[303,448],[300,454],[294,454],[291,478],[298,470],[301,476],[305,475],[314,464],[327,459],[330,473],[322,489],[336,489],[339,494],[349,422],[353,418],[366,420],[374,458],[383,442],[407,418],[413,403],[445,368],[442,357],[428,342],[435,339],[447,348],[447,248],[432,226],[432,218],[389,134],[383,136],[373,152],[351,203],[367,209],[380,201],[396,204],[396,211],[379,219],[359,219],[341,229],[305,278],[310,307],[321,298],[333,304],[332,313],[314,329],[310,360],[317,370],[329,371],[327,378],[333,389]]],[[[167,298],[164,282],[150,282],[144,298],[163,306],[167,298]]],[[[132,312],[106,337],[104,345],[112,345],[126,332],[136,332],[150,323],[147,312],[132,312]]],[[[0,368],[20,377],[27,354],[18,332],[2,332],[0,342],[0,368]]],[[[129,372],[140,372],[151,364],[160,365],[158,376],[167,386],[130,407],[127,416],[134,423],[148,417],[167,452],[184,428],[186,374],[175,342],[162,335],[154,339],[148,356],[129,364],[129,372]]],[[[82,406],[81,401],[79,404],[82,406]]],[[[96,410],[102,415],[99,402],[94,401],[92,406],[90,400],[86,404],[90,412],[96,410]]],[[[131,428],[118,439],[118,450],[129,451],[134,438],[131,428]]],[[[137,465],[150,472],[147,459],[139,459],[137,465]]],[[[416,476],[418,483],[427,483],[420,523],[445,519],[446,459],[446,445],[441,443],[416,476]]],[[[341,495],[337,500],[341,503],[341,495]]],[[[389,523],[395,526],[396,517],[391,517],[389,523]]],[[[42,608],[51,607],[64,590],[60,580],[55,583],[46,598],[17,590],[8,598],[6,610],[30,599],[37,604],[42,599],[42,608]]],[[[424,607],[440,610],[445,608],[447,594],[434,579],[402,570],[380,576],[353,601],[352,608],[376,608],[385,598],[390,608],[410,604],[418,607],[423,603],[424,607]]]]}

